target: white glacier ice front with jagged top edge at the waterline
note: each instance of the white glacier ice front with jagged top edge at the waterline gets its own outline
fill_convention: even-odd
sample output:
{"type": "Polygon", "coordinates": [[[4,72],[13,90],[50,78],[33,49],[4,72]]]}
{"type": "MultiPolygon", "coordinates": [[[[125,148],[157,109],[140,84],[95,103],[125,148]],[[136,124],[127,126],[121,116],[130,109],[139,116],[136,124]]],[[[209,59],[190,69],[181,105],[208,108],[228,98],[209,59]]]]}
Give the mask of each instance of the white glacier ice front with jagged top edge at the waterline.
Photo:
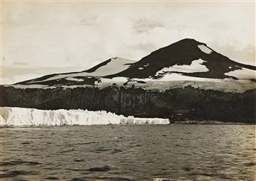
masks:
{"type": "Polygon", "coordinates": [[[168,119],[122,116],[107,111],[39,110],[36,108],[0,107],[1,126],[40,125],[167,125],[168,119]]]}

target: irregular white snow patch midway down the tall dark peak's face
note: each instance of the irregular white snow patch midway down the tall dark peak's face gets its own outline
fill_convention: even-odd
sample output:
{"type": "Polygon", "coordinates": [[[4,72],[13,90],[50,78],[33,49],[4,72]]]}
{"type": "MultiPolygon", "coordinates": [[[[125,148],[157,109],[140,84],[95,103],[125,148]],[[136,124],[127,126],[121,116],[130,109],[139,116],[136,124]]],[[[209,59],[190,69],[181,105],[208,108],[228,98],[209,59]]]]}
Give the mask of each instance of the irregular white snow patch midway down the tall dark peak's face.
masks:
{"type": "Polygon", "coordinates": [[[209,69],[206,68],[206,65],[202,65],[203,59],[197,59],[191,62],[191,65],[173,65],[169,68],[163,68],[159,70],[156,75],[160,75],[165,72],[184,72],[184,73],[194,73],[194,72],[208,72],[209,69]]]}

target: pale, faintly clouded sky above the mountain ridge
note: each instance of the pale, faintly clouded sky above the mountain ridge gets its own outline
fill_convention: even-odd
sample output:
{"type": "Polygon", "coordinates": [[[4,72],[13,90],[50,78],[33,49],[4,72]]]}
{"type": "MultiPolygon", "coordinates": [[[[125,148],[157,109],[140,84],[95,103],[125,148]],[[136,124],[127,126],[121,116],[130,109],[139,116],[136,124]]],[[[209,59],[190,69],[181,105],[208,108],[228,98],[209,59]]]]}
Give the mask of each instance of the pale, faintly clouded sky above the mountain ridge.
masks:
{"type": "Polygon", "coordinates": [[[2,1],[0,83],[140,60],[185,38],[255,65],[255,1],[2,1]]]}

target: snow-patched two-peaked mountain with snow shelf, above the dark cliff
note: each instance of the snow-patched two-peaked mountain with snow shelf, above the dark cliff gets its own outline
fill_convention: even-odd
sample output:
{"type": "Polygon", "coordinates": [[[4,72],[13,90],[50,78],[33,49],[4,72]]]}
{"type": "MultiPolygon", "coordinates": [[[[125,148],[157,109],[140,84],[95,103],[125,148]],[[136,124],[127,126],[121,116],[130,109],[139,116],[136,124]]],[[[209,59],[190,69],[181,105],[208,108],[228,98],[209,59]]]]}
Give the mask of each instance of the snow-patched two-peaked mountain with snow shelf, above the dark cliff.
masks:
{"type": "MultiPolygon", "coordinates": [[[[241,82],[236,82],[239,85],[235,86],[232,80],[256,81],[255,70],[255,66],[234,62],[215,52],[204,43],[194,39],[183,39],[152,52],[138,62],[114,57],[89,70],[51,74],[38,79],[19,82],[16,85],[22,88],[24,87],[22,85],[41,88],[42,85],[44,87],[59,87],[116,84],[126,87],[134,85],[147,89],[155,87],[161,90],[163,88],[163,86],[159,88],[161,82],[162,84],[169,82],[172,85],[174,81],[211,82],[212,84],[217,79],[219,81],[225,79],[226,87],[232,86],[232,88],[241,89],[239,86],[241,82]],[[152,84],[154,86],[151,86],[152,84]]],[[[205,87],[205,85],[200,84],[201,87],[205,87]]],[[[248,86],[249,88],[253,87],[247,82],[242,87],[248,89],[248,86]]],[[[168,89],[168,87],[164,89],[168,89]]]]}

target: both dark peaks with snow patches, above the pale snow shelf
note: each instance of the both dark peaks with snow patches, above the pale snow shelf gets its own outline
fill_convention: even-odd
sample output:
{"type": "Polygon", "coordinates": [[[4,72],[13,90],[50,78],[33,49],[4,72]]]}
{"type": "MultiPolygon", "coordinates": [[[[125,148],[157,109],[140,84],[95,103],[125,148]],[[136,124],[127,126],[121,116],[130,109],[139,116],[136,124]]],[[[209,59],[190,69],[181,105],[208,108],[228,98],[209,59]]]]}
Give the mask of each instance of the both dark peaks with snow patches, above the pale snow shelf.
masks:
{"type": "Polygon", "coordinates": [[[254,79],[254,70],[255,66],[234,62],[204,43],[194,39],[183,39],[152,52],[138,62],[115,57],[82,72],[52,74],[19,84],[48,82],[49,85],[54,85],[52,81],[56,80],[56,84],[59,85],[59,81],[63,84],[69,80],[82,82],[83,78],[91,76],[161,79],[171,73],[211,79],[240,79],[241,75],[251,73],[247,78],[254,79]]]}

